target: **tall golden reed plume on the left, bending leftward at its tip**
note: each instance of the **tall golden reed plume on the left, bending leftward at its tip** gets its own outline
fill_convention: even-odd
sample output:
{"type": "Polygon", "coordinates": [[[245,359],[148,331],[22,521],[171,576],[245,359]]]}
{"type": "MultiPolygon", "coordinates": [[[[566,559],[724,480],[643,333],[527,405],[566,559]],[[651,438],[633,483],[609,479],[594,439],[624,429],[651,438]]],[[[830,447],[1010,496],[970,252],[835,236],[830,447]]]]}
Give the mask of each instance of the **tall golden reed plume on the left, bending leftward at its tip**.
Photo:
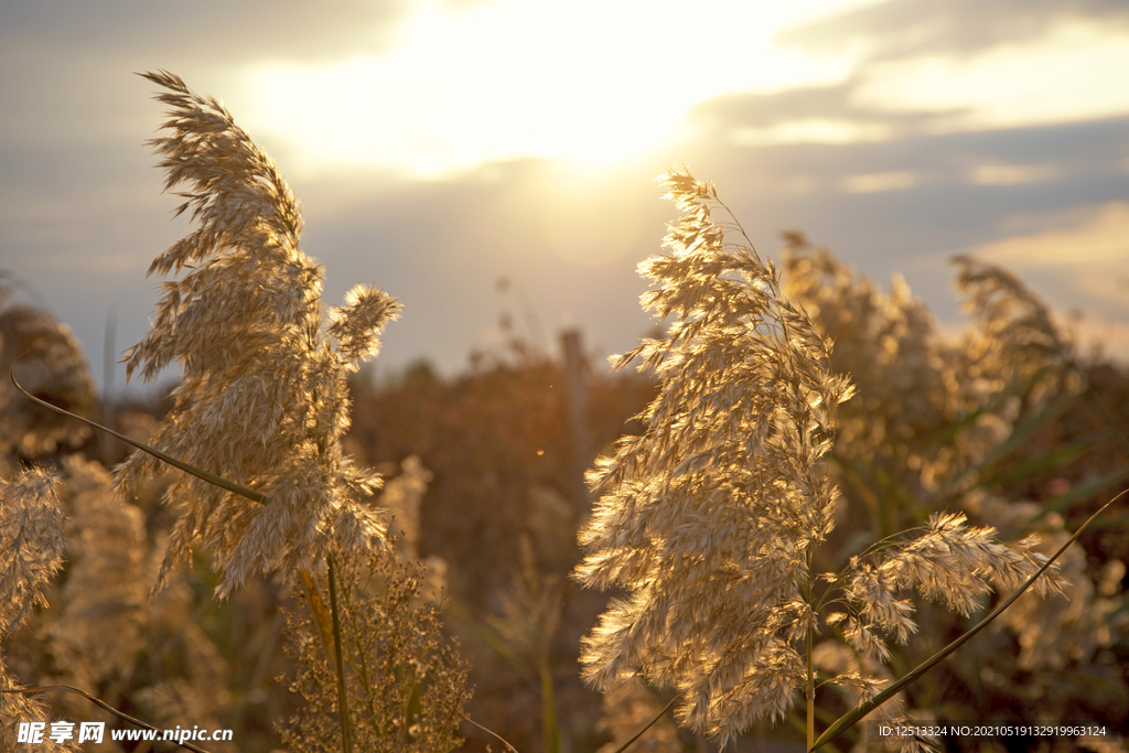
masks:
{"type": "MultiPolygon", "coordinates": [[[[255,571],[292,577],[342,551],[386,546],[385,524],[367,500],[379,476],[342,453],[349,427],[345,375],[379,349],[400,305],[358,286],[344,306],[322,312],[322,268],[298,248],[298,204],[271,158],[216,99],[168,72],[145,77],[165,89],[169,133],[152,140],[165,187],[186,185],[199,227],[149,268],[183,278],[165,295],[150,332],[126,352],[126,374],[156,377],[180,362],[175,405],[152,445],[264,494],[260,506],[195,478],[167,499],[182,506],[161,580],[191,546],[212,550],[225,595],[255,571]]],[[[161,472],[135,454],[119,483],[161,472]]]]}

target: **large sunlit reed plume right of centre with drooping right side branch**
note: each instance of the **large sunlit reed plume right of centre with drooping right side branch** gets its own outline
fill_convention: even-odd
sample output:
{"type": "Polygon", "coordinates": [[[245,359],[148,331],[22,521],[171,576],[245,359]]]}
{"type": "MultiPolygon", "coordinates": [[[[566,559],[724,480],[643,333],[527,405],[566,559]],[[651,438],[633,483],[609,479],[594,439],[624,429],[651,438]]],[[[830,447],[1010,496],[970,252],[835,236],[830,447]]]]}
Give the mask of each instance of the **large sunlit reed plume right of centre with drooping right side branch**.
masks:
{"type": "MultiPolygon", "coordinates": [[[[832,373],[830,342],[781,292],[772,262],[738,224],[715,222],[714,211],[728,212],[716,187],[685,169],[660,181],[684,214],[666,236],[669,255],[639,265],[657,283],[641,300],[674,322],[613,358],[656,371],[660,389],[639,417],[646,432],[621,439],[588,475],[599,499],[575,577],[629,595],[585,639],[584,675],[603,691],[637,676],[675,689],[680,720],[723,745],[782,718],[806,684],[811,743],[821,624],[883,659],[885,640],[905,642],[917,629],[900,592],[969,614],[987,581],[1014,587],[1045,558],[1032,541],[1006,546],[990,528],[938,514],[925,533],[851,560],[817,588],[815,549],[838,497],[824,458],[854,388],[832,373]],[[823,614],[837,601],[849,612],[823,614]]],[[[1042,590],[1061,586],[1050,579],[1042,590]]]]}

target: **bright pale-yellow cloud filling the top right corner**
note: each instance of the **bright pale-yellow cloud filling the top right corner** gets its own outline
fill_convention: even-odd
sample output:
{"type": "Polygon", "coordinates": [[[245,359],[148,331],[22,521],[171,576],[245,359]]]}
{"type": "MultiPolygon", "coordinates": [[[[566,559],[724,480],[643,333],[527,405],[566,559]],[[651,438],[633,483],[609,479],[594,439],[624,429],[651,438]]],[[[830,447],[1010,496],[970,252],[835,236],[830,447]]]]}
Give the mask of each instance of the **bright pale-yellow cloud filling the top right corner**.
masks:
{"type": "MultiPolygon", "coordinates": [[[[886,123],[892,135],[1129,113],[1121,0],[887,0],[773,41],[854,59],[835,103],[829,91],[808,94],[848,122],[886,123]]],[[[813,116],[794,107],[790,117],[813,116]]]]}

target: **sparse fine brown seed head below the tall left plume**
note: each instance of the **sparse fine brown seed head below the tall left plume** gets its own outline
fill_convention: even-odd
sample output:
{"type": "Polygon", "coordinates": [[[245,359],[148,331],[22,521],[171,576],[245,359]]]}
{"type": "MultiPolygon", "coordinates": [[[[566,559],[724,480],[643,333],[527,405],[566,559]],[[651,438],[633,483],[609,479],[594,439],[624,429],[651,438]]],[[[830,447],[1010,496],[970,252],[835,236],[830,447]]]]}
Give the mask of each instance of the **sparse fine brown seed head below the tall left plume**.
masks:
{"type": "MultiPolygon", "coordinates": [[[[357,750],[440,753],[461,745],[469,667],[443,636],[436,607],[420,601],[423,567],[382,554],[347,561],[339,577],[357,750]]],[[[294,753],[340,751],[336,672],[305,611],[289,613],[287,625],[298,660],[290,690],[306,706],[280,726],[282,739],[294,753]]]]}

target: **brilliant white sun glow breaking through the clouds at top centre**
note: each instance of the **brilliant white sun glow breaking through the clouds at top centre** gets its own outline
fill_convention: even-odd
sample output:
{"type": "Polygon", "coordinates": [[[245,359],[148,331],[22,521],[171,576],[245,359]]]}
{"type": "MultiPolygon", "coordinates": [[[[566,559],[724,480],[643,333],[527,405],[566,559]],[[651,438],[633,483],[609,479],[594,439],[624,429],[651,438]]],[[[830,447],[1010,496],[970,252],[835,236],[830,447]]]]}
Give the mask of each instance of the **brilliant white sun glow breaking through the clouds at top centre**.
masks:
{"type": "Polygon", "coordinates": [[[606,166],[677,138],[688,108],[709,97],[846,75],[846,61],[769,40],[860,3],[777,5],[425,0],[386,54],[250,69],[246,120],[312,165],[419,177],[523,157],[606,166]]]}

